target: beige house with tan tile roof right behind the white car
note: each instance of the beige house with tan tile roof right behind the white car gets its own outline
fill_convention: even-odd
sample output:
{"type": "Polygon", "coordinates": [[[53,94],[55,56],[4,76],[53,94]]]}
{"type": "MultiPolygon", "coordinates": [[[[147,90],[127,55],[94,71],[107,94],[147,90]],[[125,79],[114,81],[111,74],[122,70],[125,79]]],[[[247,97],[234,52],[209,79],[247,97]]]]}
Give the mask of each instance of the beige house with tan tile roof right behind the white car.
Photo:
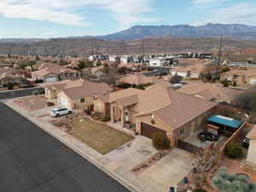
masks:
{"type": "Polygon", "coordinates": [[[113,89],[106,83],[95,83],[88,80],[63,80],[45,87],[45,96],[48,99],[57,99],[57,102],[66,108],[91,108],[97,96],[107,94],[113,89]]]}

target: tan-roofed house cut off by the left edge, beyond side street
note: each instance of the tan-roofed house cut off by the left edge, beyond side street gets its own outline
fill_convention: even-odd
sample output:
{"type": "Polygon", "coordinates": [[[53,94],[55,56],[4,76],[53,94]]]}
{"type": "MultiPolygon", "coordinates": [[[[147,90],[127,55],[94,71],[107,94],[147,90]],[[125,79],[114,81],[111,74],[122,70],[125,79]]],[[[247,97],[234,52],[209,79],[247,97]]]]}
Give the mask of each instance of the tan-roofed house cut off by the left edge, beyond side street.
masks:
{"type": "Polygon", "coordinates": [[[24,79],[15,69],[0,68],[0,85],[8,83],[24,84],[26,83],[26,79],[24,79]]]}

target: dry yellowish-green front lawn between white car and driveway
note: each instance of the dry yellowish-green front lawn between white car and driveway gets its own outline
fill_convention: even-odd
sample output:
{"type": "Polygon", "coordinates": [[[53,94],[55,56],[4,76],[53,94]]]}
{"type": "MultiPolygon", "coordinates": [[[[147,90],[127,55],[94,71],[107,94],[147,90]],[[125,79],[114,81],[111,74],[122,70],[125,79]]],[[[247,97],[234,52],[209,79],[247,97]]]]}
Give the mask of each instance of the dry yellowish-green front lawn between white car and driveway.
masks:
{"type": "Polygon", "coordinates": [[[72,125],[70,134],[101,154],[108,154],[133,139],[121,131],[114,130],[108,125],[92,122],[88,118],[74,118],[72,125]]]}

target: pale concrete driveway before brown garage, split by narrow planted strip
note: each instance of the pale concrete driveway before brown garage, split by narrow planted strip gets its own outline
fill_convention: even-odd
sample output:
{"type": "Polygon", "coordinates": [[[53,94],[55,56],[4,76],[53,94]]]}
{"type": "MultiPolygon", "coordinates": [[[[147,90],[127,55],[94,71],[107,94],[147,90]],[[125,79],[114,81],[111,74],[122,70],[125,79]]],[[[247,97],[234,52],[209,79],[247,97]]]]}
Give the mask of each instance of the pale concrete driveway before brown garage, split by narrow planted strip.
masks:
{"type": "Polygon", "coordinates": [[[192,169],[192,155],[182,149],[173,148],[171,153],[140,175],[130,172],[155,153],[157,151],[152,147],[150,139],[137,136],[132,143],[106,154],[105,168],[125,177],[142,191],[150,192],[168,191],[170,186],[179,183],[192,169]]]}

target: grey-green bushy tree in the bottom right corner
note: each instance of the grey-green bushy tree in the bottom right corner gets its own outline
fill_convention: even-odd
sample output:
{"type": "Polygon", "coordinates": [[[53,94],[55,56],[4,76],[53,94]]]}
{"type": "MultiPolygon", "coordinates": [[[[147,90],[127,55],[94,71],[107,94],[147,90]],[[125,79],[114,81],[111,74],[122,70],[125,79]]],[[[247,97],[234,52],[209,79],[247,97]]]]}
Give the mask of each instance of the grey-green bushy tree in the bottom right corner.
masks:
{"type": "Polygon", "coordinates": [[[256,192],[256,184],[249,182],[247,176],[229,174],[226,167],[212,177],[212,186],[219,192],[256,192]]]}

